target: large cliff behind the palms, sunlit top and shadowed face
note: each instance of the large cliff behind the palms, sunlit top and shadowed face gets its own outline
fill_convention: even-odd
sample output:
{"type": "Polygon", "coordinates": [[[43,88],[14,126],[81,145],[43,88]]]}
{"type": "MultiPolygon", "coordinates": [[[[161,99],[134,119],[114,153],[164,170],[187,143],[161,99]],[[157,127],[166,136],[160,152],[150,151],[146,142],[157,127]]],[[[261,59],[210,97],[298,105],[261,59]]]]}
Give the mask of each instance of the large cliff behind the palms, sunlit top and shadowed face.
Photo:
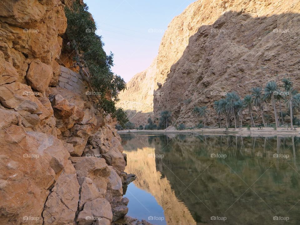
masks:
{"type": "Polygon", "coordinates": [[[299,12],[297,0],[192,3],[169,24],[156,66],[148,68],[155,75],[143,88],[163,84],[155,87],[163,94],[154,95],[154,117],[169,110],[173,122],[194,125],[192,109],[207,105],[212,125],[217,122],[213,101],[222,93],[234,90],[244,97],[252,87],[285,76],[299,86],[299,12]]]}

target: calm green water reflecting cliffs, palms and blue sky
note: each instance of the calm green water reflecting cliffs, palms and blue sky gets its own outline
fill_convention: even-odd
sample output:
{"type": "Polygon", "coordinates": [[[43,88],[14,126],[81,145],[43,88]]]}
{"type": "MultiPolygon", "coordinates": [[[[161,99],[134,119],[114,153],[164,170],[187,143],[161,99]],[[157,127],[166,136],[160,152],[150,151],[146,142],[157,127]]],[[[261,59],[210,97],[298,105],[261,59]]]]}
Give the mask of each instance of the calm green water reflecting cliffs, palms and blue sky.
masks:
{"type": "Polygon", "coordinates": [[[138,177],[125,194],[131,217],[158,225],[300,224],[300,138],[121,137],[126,172],[138,177]]]}

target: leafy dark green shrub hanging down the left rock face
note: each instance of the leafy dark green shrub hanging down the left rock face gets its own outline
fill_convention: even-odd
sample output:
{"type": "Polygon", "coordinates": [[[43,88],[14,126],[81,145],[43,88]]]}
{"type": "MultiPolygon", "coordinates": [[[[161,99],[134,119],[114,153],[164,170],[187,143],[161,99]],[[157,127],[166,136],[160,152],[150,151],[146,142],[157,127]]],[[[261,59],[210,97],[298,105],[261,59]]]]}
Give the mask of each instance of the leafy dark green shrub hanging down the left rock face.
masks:
{"type": "Polygon", "coordinates": [[[75,65],[90,91],[99,93],[95,96],[98,108],[106,115],[111,114],[124,127],[128,122],[127,113],[117,108],[116,103],[119,101],[118,93],[125,90],[126,83],[111,71],[113,53],[105,53],[101,36],[95,33],[97,27],[86,4],[76,1],[72,7],[66,6],[64,10],[68,23],[65,32],[70,48],[68,54],[73,53],[75,65]]]}

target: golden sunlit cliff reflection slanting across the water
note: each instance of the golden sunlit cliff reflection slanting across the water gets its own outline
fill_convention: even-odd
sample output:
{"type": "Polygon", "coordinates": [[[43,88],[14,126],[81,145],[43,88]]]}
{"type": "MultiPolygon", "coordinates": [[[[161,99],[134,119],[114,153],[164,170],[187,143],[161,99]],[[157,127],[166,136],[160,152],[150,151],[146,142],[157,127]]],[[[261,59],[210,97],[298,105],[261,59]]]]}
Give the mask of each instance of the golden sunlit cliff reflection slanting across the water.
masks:
{"type": "MultiPolygon", "coordinates": [[[[148,143],[148,142],[147,142],[148,143]]],[[[166,177],[156,170],[155,148],[124,151],[128,155],[126,171],[137,175],[135,185],[150,192],[164,209],[167,224],[196,224],[189,210],[180,202],[166,177]]]]}

